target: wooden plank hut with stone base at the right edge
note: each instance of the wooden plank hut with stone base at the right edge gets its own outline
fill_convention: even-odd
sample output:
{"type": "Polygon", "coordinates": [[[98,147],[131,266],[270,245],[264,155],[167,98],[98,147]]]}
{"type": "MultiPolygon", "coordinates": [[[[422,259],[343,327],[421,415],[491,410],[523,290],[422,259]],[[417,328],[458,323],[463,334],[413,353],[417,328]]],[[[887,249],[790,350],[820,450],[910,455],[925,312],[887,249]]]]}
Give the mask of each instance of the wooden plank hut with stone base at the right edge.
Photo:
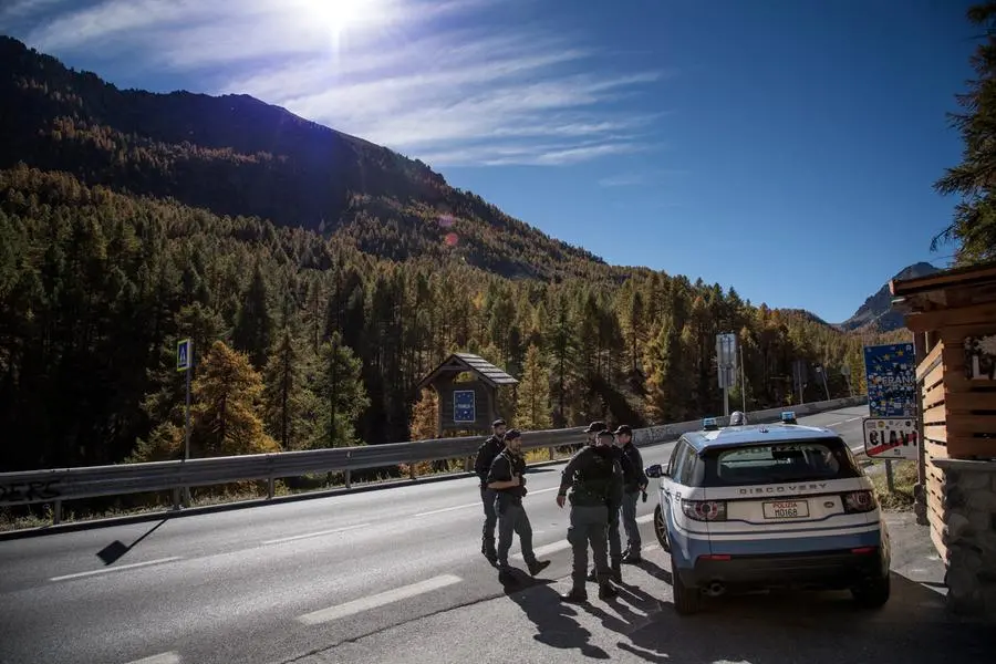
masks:
{"type": "Polygon", "coordinates": [[[890,290],[919,361],[917,513],[947,568],[950,609],[996,619],[996,263],[890,290]]]}

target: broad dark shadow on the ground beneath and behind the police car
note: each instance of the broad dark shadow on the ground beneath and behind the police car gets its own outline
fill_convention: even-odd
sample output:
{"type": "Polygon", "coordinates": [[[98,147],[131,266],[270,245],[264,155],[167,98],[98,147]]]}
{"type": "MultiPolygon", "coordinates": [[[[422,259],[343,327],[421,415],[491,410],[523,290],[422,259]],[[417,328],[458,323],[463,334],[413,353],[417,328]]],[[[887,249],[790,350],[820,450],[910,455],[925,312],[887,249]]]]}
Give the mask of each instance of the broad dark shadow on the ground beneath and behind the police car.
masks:
{"type": "MultiPolygon", "coordinates": [[[[725,598],[703,613],[679,616],[670,602],[644,625],[603,618],[625,640],[616,646],[646,662],[838,664],[840,662],[992,663],[996,631],[946,615],[943,598],[893,574],[880,610],[858,608],[849,593],[784,593],[725,598]]],[[[603,613],[605,613],[603,611],[603,613]]]]}

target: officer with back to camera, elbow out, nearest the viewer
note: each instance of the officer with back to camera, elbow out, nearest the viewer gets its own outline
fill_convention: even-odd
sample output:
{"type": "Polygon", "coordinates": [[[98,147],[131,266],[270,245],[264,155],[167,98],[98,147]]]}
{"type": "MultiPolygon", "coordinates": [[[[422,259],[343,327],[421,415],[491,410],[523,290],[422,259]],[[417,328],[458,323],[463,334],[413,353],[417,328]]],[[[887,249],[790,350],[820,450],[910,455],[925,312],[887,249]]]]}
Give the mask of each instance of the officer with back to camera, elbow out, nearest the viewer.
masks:
{"type": "Polygon", "coordinates": [[[603,424],[602,430],[599,432],[599,444],[583,447],[572,456],[560,480],[560,490],[557,492],[558,507],[563,508],[568,488],[571,489],[571,525],[568,528],[568,541],[573,553],[573,570],[570,592],[560,595],[564,602],[588,601],[584,581],[588,573],[589,544],[595,563],[599,598],[606,600],[616,595],[616,590],[609,582],[605,538],[610,504],[618,500],[619,494],[622,492],[622,469],[609,444],[611,439],[612,434],[605,430],[603,424]]]}

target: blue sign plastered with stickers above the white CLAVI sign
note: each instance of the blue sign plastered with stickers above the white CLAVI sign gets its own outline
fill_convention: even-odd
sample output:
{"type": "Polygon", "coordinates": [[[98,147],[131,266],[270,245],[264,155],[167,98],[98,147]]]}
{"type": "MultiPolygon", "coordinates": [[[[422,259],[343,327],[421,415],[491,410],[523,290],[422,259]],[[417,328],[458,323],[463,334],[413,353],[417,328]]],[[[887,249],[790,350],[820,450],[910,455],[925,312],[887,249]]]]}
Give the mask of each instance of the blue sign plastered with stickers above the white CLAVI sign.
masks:
{"type": "Polygon", "coordinates": [[[916,357],[912,343],[864,346],[870,417],[916,416],[916,357]]]}

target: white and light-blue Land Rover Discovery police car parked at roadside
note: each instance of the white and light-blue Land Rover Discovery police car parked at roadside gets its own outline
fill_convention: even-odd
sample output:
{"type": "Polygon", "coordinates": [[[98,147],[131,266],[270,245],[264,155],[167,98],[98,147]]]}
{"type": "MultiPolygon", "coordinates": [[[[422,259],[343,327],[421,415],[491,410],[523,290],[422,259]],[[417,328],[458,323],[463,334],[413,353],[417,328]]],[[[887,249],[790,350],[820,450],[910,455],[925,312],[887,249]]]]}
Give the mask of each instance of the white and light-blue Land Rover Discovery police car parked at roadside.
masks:
{"type": "Polygon", "coordinates": [[[865,606],[889,601],[889,533],[871,480],[830,429],[780,424],[685,434],[661,478],[654,531],[671,553],[674,605],[727,590],[850,589],[865,606]]]}

